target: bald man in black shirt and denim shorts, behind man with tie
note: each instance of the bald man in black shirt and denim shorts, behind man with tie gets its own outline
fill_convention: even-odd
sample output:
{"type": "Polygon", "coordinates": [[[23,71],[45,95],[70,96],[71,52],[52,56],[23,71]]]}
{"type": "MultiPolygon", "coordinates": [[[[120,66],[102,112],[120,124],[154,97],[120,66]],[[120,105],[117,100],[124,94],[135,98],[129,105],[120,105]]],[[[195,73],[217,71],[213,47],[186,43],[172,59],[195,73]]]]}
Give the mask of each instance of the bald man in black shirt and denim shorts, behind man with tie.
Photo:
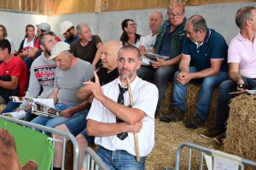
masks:
{"type": "MultiPolygon", "coordinates": [[[[107,42],[103,45],[102,48],[102,69],[97,71],[97,76],[100,79],[101,86],[107,84],[108,82],[112,82],[114,79],[119,77],[119,71],[117,69],[117,59],[118,52],[122,45],[119,42],[111,41],[107,42]]],[[[95,82],[95,77],[91,79],[91,81],[95,82]]],[[[72,111],[75,111],[79,107],[81,108],[89,108],[91,100],[89,99],[91,95],[90,90],[84,90],[84,87],[79,89],[77,94],[79,99],[84,100],[83,104],[77,105],[73,107],[72,111]]],[[[93,96],[91,96],[93,98],[93,96]]],[[[71,112],[72,112],[71,111],[71,112]]],[[[82,156],[84,154],[84,149],[89,144],[94,143],[94,137],[89,136],[86,133],[86,115],[77,116],[72,120],[61,124],[60,126],[55,127],[55,129],[59,129],[68,133],[72,133],[74,136],[77,136],[79,141],[79,150],[80,150],[80,167],[82,163],[82,156]],[[83,131],[83,132],[82,132],[83,131]]],[[[56,135],[56,139],[63,139],[61,136],[56,135]]],[[[69,139],[67,139],[69,140],[69,139]]],[[[61,161],[62,161],[62,146],[61,142],[55,143],[55,157],[54,157],[54,167],[55,170],[58,168],[61,169],[61,161]]]]}

